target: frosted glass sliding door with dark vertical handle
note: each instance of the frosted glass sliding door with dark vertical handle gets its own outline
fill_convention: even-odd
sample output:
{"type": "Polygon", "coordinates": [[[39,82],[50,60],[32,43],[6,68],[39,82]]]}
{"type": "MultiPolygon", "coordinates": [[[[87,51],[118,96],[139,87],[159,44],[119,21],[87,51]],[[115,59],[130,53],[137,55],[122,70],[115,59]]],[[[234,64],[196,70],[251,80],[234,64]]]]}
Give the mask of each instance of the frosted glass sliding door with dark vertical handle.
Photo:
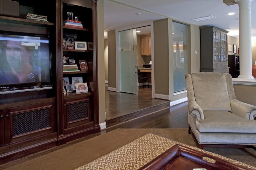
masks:
{"type": "Polygon", "coordinates": [[[119,32],[120,92],[138,94],[136,29],[119,32]]]}

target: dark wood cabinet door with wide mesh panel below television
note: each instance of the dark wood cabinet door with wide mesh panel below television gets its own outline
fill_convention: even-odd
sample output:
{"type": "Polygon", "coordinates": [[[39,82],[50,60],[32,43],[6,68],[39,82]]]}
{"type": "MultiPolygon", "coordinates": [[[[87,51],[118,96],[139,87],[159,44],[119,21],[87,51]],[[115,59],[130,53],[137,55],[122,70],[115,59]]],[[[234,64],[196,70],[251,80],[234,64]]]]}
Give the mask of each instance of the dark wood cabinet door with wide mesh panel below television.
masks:
{"type": "Polygon", "coordinates": [[[56,131],[55,102],[4,109],[5,145],[56,131]]]}

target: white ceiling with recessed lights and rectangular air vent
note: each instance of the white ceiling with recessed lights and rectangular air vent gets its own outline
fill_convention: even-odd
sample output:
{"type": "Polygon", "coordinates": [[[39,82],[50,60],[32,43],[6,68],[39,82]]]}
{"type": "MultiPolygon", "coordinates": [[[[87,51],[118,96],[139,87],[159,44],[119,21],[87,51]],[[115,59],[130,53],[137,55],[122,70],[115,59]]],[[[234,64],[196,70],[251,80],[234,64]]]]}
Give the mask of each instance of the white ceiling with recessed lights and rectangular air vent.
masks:
{"type": "MultiPolygon", "coordinates": [[[[104,31],[167,17],[197,26],[215,26],[239,38],[237,4],[227,6],[222,0],[104,0],[104,31]],[[235,14],[227,15],[230,12],[235,14]],[[209,15],[216,18],[192,20],[209,15]]],[[[252,36],[256,36],[256,0],[251,2],[251,21],[252,36]]]]}

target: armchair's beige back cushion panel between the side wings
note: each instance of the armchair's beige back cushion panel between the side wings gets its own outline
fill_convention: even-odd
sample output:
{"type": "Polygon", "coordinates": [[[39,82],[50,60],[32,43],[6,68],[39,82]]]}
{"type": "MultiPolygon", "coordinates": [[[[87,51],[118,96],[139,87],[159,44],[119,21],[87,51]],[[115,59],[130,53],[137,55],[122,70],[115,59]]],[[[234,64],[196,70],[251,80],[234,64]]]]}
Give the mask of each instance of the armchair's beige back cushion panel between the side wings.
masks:
{"type": "Polygon", "coordinates": [[[224,74],[194,73],[191,77],[196,103],[203,111],[231,111],[227,82],[224,74]]]}

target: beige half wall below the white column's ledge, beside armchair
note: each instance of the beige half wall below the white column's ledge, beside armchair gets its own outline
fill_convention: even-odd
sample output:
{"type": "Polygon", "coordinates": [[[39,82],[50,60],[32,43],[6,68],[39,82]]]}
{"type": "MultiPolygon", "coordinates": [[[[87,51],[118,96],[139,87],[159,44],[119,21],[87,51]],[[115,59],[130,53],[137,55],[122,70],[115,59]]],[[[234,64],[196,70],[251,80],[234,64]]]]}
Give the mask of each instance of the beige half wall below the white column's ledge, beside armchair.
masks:
{"type": "Polygon", "coordinates": [[[236,99],[256,106],[256,86],[234,84],[236,99]]]}

